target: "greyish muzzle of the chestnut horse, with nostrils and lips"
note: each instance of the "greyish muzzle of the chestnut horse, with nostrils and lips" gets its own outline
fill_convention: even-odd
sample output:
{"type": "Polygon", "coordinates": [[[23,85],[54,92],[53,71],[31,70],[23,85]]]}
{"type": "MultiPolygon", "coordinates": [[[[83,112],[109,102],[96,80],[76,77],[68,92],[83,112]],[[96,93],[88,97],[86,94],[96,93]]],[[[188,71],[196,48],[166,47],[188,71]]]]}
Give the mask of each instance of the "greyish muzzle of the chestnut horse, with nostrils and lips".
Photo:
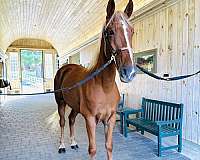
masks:
{"type": "Polygon", "coordinates": [[[124,83],[131,82],[135,77],[137,69],[135,66],[121,67],[119,70],[120,80],[124,83]]]}

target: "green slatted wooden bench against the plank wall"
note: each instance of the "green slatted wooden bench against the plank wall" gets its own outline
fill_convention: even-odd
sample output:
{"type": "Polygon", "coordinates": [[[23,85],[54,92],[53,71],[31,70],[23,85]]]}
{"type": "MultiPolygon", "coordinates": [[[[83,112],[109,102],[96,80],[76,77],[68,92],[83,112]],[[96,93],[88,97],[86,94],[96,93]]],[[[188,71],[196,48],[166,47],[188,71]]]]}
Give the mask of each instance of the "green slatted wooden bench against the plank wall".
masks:
{"type": "MultiPolygon", "coordinates": [[[[124,136],[127,137],[128,126],[133,125],[137,131],[147,131],[158,136],[158,156],[162,151],[178,148],[182,150],[182,119],[183,104],[169,103],[158,100],[142,98],[142,109],[138,110],[140,116],[130,119],[130,112],[124,115],[124,136]],[[162,138],[169,136],[178,136],[178,144],[174,146],[162,146],[162,138]]],[[[136,112],[134,112],[136,113],[136,112]]]]}

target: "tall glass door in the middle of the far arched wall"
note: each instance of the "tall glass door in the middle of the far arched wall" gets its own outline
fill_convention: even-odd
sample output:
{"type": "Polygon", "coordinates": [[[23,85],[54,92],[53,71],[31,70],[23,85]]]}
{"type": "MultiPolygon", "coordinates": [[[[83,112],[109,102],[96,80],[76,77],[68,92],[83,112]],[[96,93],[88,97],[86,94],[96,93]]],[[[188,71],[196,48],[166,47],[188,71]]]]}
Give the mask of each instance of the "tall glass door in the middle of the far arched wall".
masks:
{"type": "Polygon", "coordinates": [[[20,50],[21,87],[23,93],[44,91],[43,53],[40,50],[20,50]]]}

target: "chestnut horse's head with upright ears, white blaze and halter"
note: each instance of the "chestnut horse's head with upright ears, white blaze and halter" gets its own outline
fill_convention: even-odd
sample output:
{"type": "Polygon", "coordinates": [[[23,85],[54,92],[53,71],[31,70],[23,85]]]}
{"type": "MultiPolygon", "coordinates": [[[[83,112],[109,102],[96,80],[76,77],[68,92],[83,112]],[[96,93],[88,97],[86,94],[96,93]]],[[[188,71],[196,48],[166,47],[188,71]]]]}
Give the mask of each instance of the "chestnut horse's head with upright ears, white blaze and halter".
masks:
{"type": "Polygon", "coordinates": [[[106,56],[115,56],[115,64],[120,79],[125,83],[133,80],[136,75],[132,49],[132,36],[134,29],[128,21],[132,12],[132,0],[129,0],[124,12],[115,12],[115,2],[114,0],[109,0],[107,6],[106,25],[103,30],[106,56]]]}

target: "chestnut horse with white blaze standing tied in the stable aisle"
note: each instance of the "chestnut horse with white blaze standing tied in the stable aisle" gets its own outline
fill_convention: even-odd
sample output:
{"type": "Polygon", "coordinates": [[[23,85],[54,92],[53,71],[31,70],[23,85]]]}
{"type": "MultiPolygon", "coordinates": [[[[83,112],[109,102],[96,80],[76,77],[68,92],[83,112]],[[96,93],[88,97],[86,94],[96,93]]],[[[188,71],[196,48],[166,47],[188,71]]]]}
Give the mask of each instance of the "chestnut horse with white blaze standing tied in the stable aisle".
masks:
{"type": "Polygon", "coordinates": [[[107,158],[112,159],[112,133],[116,120],[116,106],[120,99],[115,83],[116,69],[119,72],[121,81],[125,83],[130,82],[136,73],[132,53],[133,28],[128,22],[132,11],[132,0],[129,0],[124,12],[115,12],[115,2],[109,0],[97,63],[92,69],[68,64],[57,71],[54,79],[54,89],[68,88],[98,70],[111,57],[115,57],[107,68],[82,86],[69,92],[55,93],[61,127],[59,153],[65,152],[65,107],[68,105],[72,108],[69,115],[71,148],[78,148],[74,138],[74,123],[77,114],[80,113],[86,122],[90,158],[93,159],[96,155],[95,131],[97,124],[102,122],[105,129],[107,158]]]}

